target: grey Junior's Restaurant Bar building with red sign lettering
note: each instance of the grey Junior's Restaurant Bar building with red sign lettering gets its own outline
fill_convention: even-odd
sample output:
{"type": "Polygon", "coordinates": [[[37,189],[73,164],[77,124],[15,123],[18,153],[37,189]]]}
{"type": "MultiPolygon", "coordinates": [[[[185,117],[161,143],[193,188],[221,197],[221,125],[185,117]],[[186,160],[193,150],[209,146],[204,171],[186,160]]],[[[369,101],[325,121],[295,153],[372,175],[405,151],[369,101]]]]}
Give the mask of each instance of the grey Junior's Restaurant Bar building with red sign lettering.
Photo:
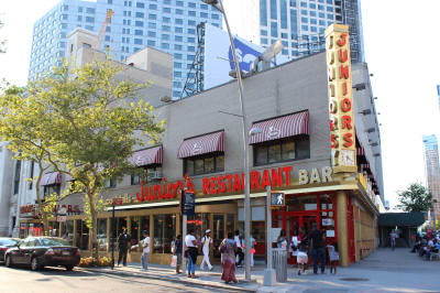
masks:
{"type": "MultiPolygon", "coordinates": [[[[344,33],[342,26],[331,33],[336,33],[334,46],[349,50],[348,44],[339,42],[343,40],[339,35],[344,33]]],[[[292,237],[299,227],[309,231],[311,224],[317,223],[326,231],[328,242],[339,243],[342,265],[359,261],[377,247],[383,180],[380,129],[367,66],[356,64],[352,68],[350,58],[345,59],[342,65],[348,67],[344,74],[350,84],[342,87],[343,96],[339,97],[339,90],[332,93],[328,83],[342,83],[338,80],[339,73],[332,76],[330,66],[340,66],[341,59],[332,62],[330,54],[328,61],[326,55],[299,58],[243,80],[250,121],[246,128],[262,130],[250,137],[251,235],[257,242],[256,257],[265,256],[267,241],[266,186],[286,196],[285,207],[272,213],[275,239],[280,229],[292,237]],[[350,109],[343,100],[349,94],[353,95],[350,109]],[[344,105],[340,109],[346,110],[343,116],[350,115],[340,120],[341,133],[330,123],[336,123],[337,111],[332,107],[338,98],[344,105]],[[346,119],[351,119],[350,128],[346,119]],[[337,135],[342,138],[339,143],[337,135]],[[351,138],[349,149],[344,149],[345,138],[351,138]]],[[[110,205],[113,198],[123,198],[123,205],[116,207],[117,232],[127,227],[135,245],[141,231],[148,230],[150,261],[169,263],[173,238],[182,234],[182,188],[196,192],[196,216],[188,217],[188,229],[195,228],[202,236],[209,228],[216,248],[228,232],[243,232],[243,141],[238,85],[231,82],[170,101],[158,106],[156,112],[166,120],[162,143],[139,150],[132,158],[134,164],[150,171],[150,176],[125,176],[109,184],[102,193],[108,207],[99,216],[98,238],[99,249],[109,252],[110,205]]],[[[54,184],[65,185],[65,178],[57,182],[54,184]]],[[[53,227],[58,227],[61,235],[67,230],[74,245],[88,249],[82,197],[70,195],[63,205],[69,214],[67,221],[53,223],[53,227]]],[[[138,250],[129,254],[132,261],[140,257],[138,250]]],[[[213,258],[220,258],[218,249],[213,258]]]]}

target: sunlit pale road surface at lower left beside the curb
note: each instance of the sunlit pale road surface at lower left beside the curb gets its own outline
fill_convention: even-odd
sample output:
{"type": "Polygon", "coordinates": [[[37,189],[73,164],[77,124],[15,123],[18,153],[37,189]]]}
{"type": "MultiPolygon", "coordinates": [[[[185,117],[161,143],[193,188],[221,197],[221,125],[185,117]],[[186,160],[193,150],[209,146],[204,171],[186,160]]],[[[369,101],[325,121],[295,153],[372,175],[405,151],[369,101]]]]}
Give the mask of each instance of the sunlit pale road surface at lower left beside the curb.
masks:
{"type": "MultiPolygon", "coordinates": [[[[45,268],[33,272],[29,268],[0,265],[0,293],[88,293],[88,292],[213,292],[210,287],[182,283],[107,275],[103,273],[45,268]]],[[[228,292],[216,289],[215,292],[228,292]]]]}

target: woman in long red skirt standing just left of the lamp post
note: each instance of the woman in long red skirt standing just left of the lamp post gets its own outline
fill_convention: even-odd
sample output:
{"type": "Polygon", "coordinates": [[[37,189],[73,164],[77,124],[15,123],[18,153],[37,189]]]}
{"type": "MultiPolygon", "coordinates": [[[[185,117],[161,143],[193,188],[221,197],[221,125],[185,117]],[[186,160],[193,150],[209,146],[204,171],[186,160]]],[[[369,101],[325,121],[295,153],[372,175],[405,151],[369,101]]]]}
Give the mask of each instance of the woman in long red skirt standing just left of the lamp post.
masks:
{"type": "Polygon", "coordinates": [[[232,232],[228,232],[228,238],[223,239],[219,250],[221,253],[221,280],[227,284],[229,282],[237,283],[235,251],[238,248],[234,238],[232,238],[232,232]]]}

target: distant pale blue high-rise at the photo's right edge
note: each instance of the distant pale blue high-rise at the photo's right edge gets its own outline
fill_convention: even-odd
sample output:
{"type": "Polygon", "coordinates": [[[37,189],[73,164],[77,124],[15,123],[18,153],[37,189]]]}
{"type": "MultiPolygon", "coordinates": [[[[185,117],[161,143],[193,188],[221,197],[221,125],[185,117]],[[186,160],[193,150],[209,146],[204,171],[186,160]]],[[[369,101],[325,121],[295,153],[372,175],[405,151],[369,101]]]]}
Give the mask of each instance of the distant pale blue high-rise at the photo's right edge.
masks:
{"type": "Polygon", "coordinates": [[[439,143],[435,134],[424,135],[425,149],[425,170],[428,191],[432,198],[437,199],[433,204],[436,219],[440,219],[440,163],[439,163],[439,143]]]}

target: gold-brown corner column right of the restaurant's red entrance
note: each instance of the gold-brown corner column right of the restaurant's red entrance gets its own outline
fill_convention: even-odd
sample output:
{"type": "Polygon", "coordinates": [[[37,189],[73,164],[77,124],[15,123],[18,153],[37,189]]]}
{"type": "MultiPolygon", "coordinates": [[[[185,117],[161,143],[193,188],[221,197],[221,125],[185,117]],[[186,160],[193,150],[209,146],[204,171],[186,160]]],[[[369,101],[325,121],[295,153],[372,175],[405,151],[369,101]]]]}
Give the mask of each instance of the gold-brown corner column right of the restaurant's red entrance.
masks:
{"type": "Polygon", "coordinates": [[[340,263],[342,267],[349,267],[349,227],[346,223],[346,193],[339,191],[337,193],[337,228],[338,228],[338,248],[340,263]]]}

